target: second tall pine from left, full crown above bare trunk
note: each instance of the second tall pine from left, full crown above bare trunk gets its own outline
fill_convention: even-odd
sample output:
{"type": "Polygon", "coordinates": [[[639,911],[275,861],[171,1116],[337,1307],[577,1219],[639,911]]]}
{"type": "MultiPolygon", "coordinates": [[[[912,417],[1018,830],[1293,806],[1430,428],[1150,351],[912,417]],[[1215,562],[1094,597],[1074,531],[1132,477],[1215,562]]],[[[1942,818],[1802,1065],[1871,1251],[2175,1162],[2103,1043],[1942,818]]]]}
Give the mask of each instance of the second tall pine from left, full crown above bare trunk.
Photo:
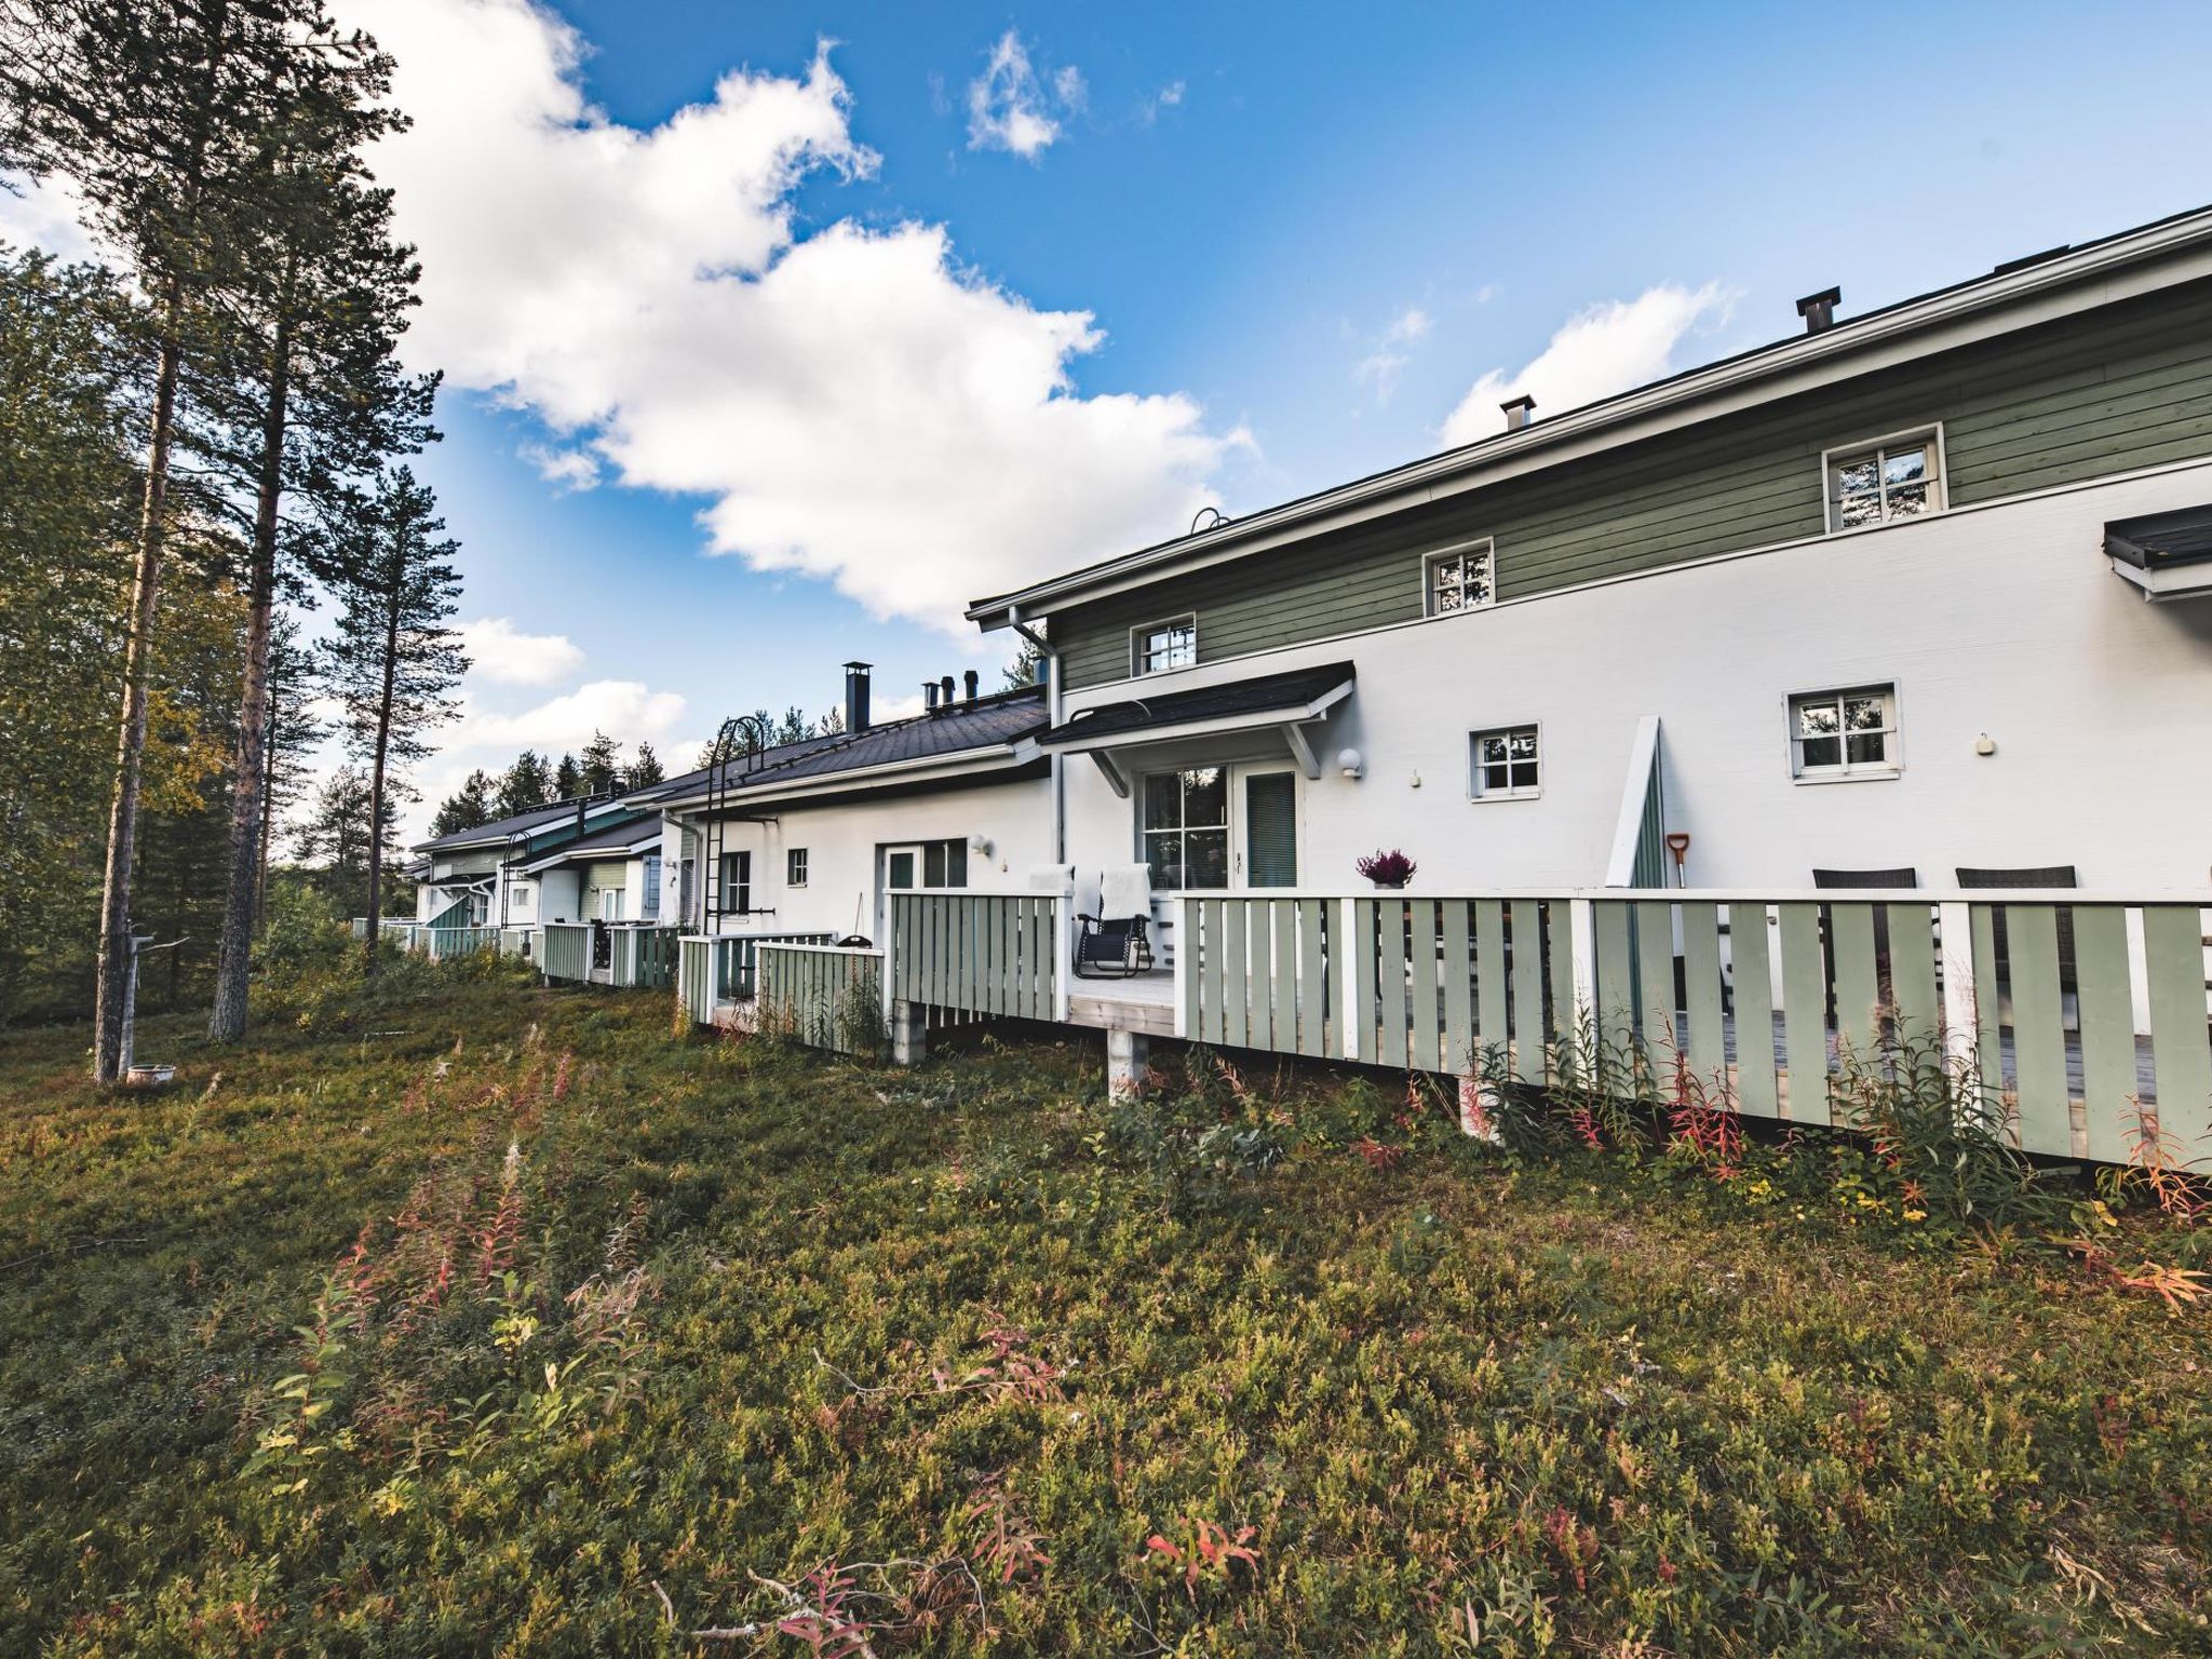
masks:
{"type": "Polygon", "coordinates": [[[212,460],[234,480],[250,546],[250,624],[239,686],[230,885],[208,1037],[246,1033],[246,980],[259,902],[265,801],[270,622],[285,498],[334,489],[429,438],[431,380],[400,374],[396,343],[416,303],[411,250],[392,239],[392,199],[367,184],[358,150],[405,126],[385,102],[392,60],[367,35],[299,42],[272,88],[250,217],[228,230],[246,257],[208,307],[221,349],[188,361],[188,392],[210,409],[212,460]]]}

